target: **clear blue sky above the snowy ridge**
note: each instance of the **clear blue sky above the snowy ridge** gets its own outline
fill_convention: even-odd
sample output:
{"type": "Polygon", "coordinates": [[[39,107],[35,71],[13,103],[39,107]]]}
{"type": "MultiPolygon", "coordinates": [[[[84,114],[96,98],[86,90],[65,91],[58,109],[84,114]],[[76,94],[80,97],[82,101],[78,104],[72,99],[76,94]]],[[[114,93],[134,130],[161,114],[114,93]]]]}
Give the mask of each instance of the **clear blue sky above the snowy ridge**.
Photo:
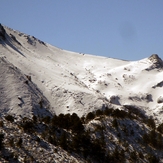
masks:
{"type": "Polygon", "coordinates": [[[1,0],[0,23],[74,52],[163,59],[163,0],[1,0]]]}

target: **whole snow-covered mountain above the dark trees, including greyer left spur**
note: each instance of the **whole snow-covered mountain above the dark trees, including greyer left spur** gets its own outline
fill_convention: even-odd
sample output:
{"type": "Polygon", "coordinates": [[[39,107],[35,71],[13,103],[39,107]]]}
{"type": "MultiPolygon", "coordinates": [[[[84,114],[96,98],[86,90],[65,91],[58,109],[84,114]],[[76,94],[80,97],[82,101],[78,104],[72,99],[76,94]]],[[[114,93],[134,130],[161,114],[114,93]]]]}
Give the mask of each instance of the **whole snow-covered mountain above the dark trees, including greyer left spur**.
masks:
{"type": "Polygon", "coordinates": [[[1,113],[29,114],[26,106],[45,97],[52,114],[82,116],[107,105],[135,105],[162,121],[163,62],[158,55],[124,61],[74,53],[1,25],[0,59],[1,113]],[[33,97],[25,76],[42,95],[33,97]]]}

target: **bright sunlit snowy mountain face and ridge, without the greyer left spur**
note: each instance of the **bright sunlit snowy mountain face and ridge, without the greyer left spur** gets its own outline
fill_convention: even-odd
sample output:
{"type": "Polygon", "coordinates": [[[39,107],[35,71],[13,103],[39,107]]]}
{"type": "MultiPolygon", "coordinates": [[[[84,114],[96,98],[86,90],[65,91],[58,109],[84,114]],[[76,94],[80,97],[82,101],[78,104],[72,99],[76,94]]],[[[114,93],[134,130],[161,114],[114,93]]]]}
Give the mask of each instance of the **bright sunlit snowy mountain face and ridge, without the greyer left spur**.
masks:
{"type": "Polygon", "coordinates": [[[50,101],[53,113],[76,112],[82,116],[102,108],[103,105],[115,108],[123,108],[126,103],[136,103],[142,108],[151,107],[152,103],[156,107],[161,105],[156,102],[159,97],[154,97],[155,100],[149,102],[143,100],[149,90],[154,91],[150,87],[161,82],[159,78],[162,72],[157,71],[162,68],[162,60],[158,55],[151,55],[140,61],[122,61],[61,50],[34,36],[2,25],[1,29],[4,29],[1,31],[3,34],[5,31],[6,38],[1,40],[1,57],[31,76],[32,82],[50,101]],[[146,70],[152,72],[147,73],[146,70]],[[141,90],[141,82],[146,80],[143,76],[152,79],[152,75],[156,73],[159,81],[155,84],[151,81],[151,86],[141,90]],[[141,91],[138,92],[138,89],[141,91]]]}

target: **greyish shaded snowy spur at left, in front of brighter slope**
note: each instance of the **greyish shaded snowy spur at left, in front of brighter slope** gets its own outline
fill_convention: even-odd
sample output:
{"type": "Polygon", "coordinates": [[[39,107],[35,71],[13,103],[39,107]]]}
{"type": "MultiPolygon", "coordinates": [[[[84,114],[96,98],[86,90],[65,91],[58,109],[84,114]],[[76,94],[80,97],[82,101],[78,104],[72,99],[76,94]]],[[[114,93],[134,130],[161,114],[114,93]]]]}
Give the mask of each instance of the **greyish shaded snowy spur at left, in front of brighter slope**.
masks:
{"type": "Polygon", "coordinates": [[[21,71],[0,58],[0,115],[51,116],[50,104],[37,86],[21,71]]]}

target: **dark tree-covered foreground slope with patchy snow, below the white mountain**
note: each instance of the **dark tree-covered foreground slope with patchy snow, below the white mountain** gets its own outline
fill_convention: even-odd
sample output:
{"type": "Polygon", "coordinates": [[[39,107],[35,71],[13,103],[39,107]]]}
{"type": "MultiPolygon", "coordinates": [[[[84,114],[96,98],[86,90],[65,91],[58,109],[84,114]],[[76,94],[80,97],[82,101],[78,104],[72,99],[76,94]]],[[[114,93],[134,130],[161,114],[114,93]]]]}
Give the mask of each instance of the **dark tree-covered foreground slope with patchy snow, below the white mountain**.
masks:
{"type": "Polygon", "coordinates": [[[81,118],[75,113],[33,119],[8,115],[0,121],[0,157],[3,161],[40,162],[44,151],[28,149],[30,143],[35,143],[35,148],[47,151],[54,147],[56,153],[63,149],[80,162],[157,163],[163,155],[162,126],[156,127],[152,118],[129,106],[126,111],[105,108],[81,118]]]}

